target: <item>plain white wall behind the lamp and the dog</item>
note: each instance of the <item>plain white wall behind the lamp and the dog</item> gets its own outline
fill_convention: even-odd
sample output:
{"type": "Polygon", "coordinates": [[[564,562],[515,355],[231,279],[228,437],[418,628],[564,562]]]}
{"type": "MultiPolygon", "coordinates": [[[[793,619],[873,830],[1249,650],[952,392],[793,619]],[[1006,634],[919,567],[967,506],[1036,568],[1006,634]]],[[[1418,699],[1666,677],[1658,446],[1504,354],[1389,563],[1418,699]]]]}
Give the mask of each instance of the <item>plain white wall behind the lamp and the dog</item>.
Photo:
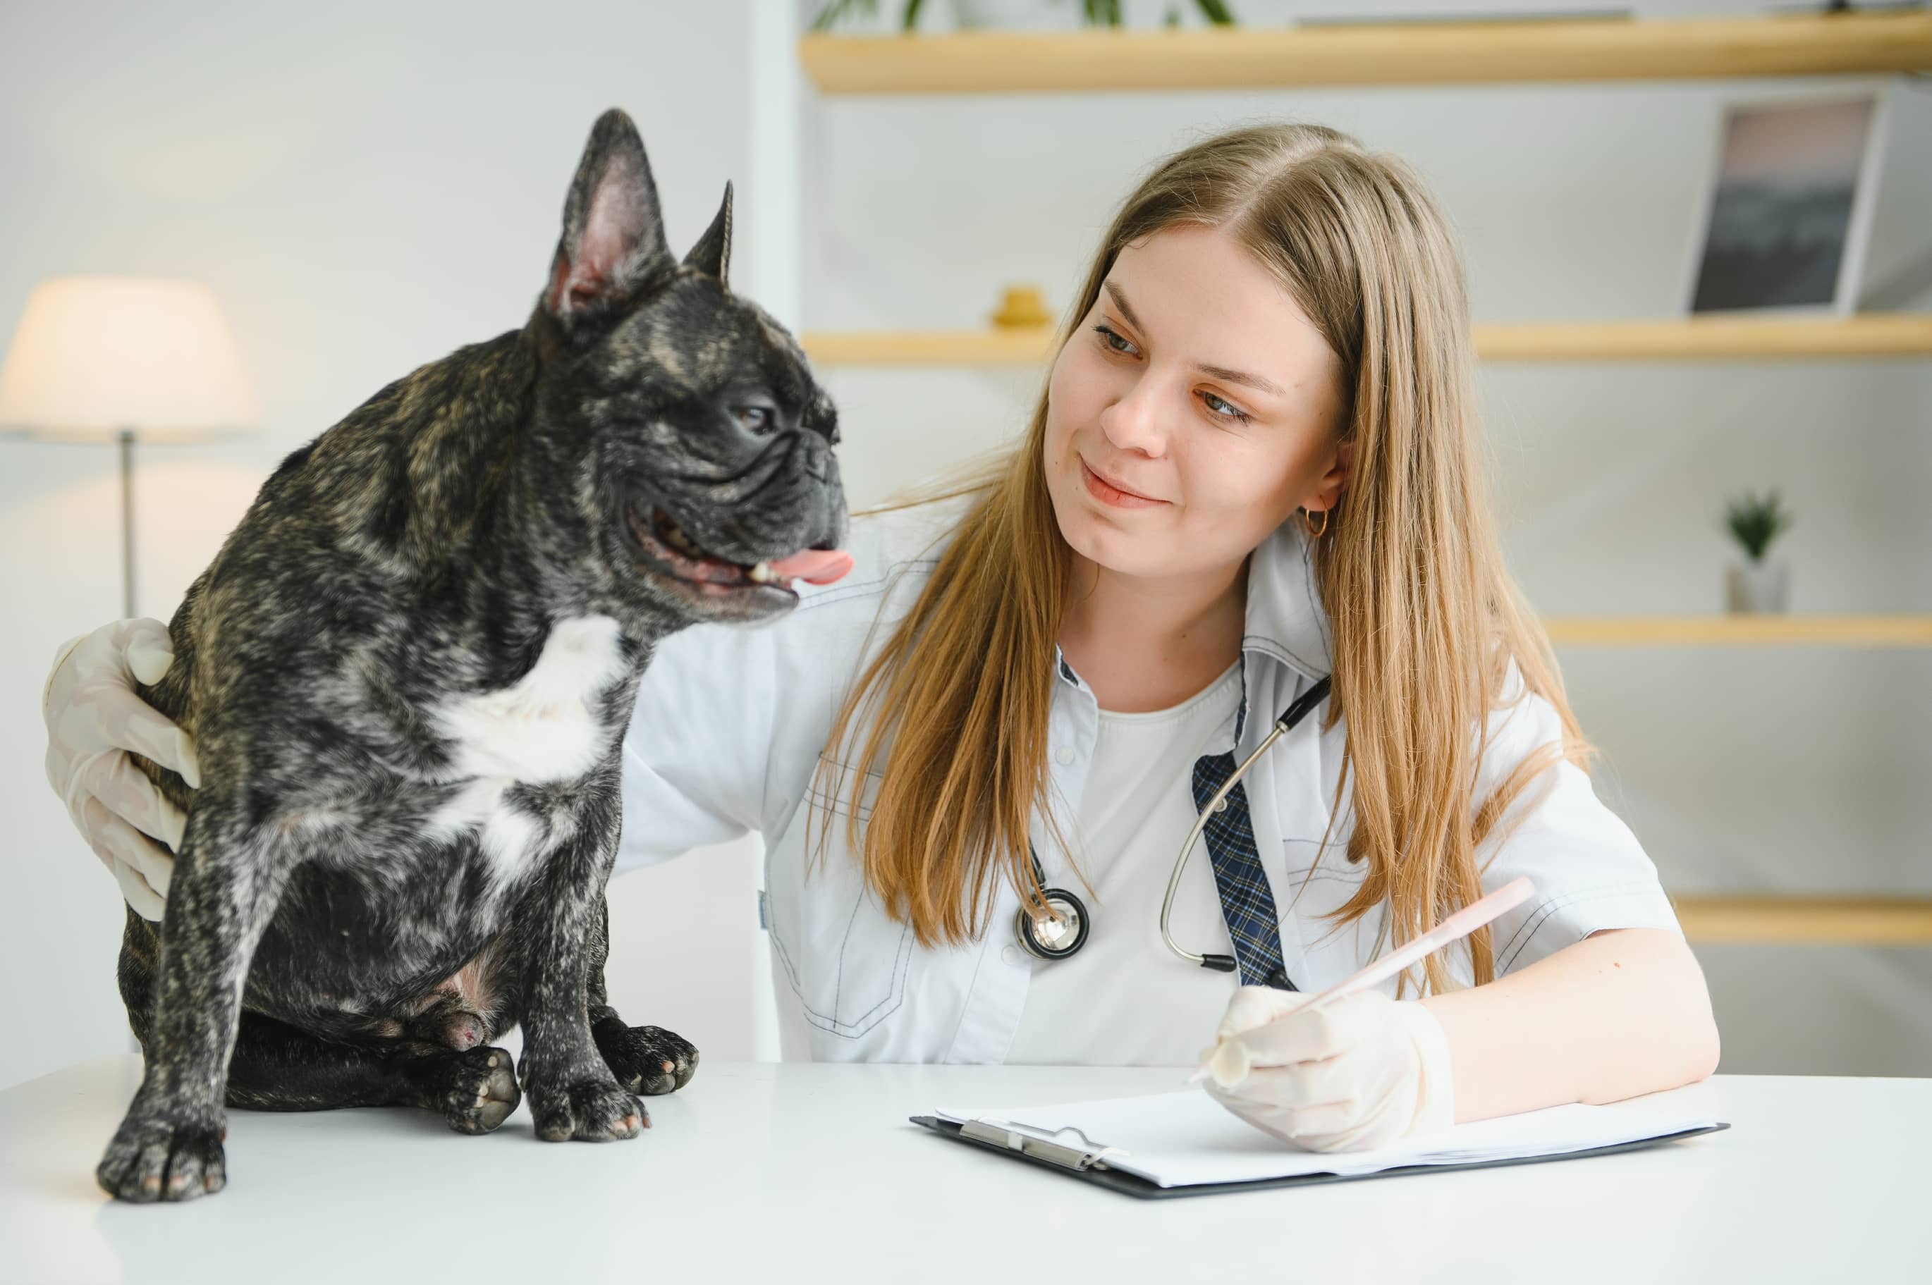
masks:
{"type": "MultiPolygon", "coordinates": [[[[58,272],[207,280],[265,406],[240,446],[139,452],[139,609],[166,618],[274,462],[413,365],[522,325],[607,106],[638,120],[670,242],[744,197],[740,4],[8,6],[0,332],[58,272]]],[[[740,259],[750,280],[755,265],[740,259]]],[[[112,881],[46,788],[56,642],[120,613],[112,448],[0,443],[0,1086],[126,1047],[112,881]]],[[[616,1001],[750,1057],[748,844],[612,885],[616,1001]],[[676,984],[657,984],[674,978],[676,984]]]]}

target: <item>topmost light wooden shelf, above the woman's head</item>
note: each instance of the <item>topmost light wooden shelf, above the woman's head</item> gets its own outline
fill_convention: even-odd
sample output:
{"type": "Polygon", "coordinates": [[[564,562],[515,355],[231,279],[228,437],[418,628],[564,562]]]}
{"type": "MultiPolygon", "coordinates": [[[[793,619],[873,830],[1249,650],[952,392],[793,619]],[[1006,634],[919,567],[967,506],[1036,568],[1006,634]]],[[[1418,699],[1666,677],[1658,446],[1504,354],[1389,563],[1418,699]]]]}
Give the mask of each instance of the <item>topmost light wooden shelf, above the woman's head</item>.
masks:
{"type": "Polygon", "coordinates": [[[808,35],[798,52],[827,95],[1855,75],[1932,68],[1932,12],[808,35]]]}

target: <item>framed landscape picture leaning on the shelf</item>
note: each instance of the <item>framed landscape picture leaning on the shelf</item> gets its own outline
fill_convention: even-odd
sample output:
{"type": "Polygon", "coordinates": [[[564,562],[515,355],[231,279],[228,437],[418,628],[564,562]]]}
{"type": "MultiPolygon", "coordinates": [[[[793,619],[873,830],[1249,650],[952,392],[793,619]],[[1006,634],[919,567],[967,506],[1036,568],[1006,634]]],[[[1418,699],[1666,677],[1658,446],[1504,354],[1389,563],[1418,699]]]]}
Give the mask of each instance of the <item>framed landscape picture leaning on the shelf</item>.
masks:
{"type": "Polygon", "coordinates": [[[1857,309],[1884,97],[1737,102],[1718,131],[1690,313],[1857,309]]]}

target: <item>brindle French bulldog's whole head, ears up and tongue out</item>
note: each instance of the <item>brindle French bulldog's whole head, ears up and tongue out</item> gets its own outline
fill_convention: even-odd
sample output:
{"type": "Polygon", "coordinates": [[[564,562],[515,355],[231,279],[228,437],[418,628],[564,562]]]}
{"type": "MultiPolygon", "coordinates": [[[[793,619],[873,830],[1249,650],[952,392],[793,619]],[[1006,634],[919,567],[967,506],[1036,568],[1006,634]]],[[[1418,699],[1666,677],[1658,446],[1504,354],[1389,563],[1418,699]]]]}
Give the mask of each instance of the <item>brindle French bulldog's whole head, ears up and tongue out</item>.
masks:
{"type": "Polygon", "coordinates": [[[539,313],[539,423],[585,462],[582,516],[620,593],[678,620],[761,620],[837,580],[846,504],[831,398],[726,286],[730,189],[682,263],[622,112],[597,122],[539,313]]]}

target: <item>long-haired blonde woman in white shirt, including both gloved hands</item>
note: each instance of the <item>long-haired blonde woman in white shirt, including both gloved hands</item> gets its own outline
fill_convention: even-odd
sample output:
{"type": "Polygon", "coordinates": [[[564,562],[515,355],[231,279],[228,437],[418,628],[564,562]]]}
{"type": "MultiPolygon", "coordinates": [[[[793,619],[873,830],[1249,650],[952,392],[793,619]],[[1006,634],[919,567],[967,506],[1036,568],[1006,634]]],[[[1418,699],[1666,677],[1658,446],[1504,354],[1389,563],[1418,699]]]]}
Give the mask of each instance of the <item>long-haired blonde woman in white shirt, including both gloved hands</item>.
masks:
{"type": "MultiPolygon", "coordinates": [[[[1503,566],[1472,365],[1403,162],[1316,126],[1167,158],[1010,454],[858,518],[852,570],[775,626],[663,643],[618,870],[763,835],[790,1059],[1186,1067],[1221,1022],[1264,1067],[1223,1103],[1325,1150],[1708,1074],[1704,978],[1503,566]],[[1321,678],[1182,873],[1175,941],[1236,974],[1194,966],[1159,929],[1175,854],[1321,678]],[[1296,1020],[1519,875],[1536,897],[1464,949],[1296,1020]],[[1086,908],[1055,960],[1022,949],[1047,887],[1086,908]]],[[[193,771],[128,682],[168,638],[70,651],[48,771],[153,918],[147,837],[182,817],[120,750],[193,771]]]]}

